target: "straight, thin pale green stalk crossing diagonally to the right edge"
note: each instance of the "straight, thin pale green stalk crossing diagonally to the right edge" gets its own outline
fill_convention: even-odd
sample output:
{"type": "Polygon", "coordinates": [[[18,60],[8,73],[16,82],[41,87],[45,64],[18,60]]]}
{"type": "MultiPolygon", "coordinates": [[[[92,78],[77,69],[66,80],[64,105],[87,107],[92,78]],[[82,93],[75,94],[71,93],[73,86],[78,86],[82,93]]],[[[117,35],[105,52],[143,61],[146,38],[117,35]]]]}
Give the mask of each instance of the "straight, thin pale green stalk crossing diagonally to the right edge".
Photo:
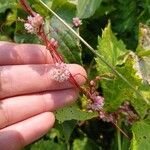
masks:
{"type": "Polygon", "coordinates": [[[105,61],[105,58],[103,58],[102,55],[100,55],[99,53],[97,53],[94,48],[92,48],[76,31],[74,31],[62,18],[60,18],[51,8],[49,8],[43,1],[39,0],[39,2],[46,7],[58,20],[60,20],[76,37],[78,37],[80,39],[80,41],[82,43],[85,44],[85,46],[87,48],[89,48],[95,55],[97,55],[101,61],[107,65],[116,75],[118,75],[124,82],[126,82],[135,92],[137,95],[139,95],[147,104],[150,105],[150,102],[147,98],[143,97],[141,92],[138,91],[122,74],[120,74],[116,69],[114,69],[114,67],[112,65],[110,65],[109,63],[107,63],[105,61]]]}

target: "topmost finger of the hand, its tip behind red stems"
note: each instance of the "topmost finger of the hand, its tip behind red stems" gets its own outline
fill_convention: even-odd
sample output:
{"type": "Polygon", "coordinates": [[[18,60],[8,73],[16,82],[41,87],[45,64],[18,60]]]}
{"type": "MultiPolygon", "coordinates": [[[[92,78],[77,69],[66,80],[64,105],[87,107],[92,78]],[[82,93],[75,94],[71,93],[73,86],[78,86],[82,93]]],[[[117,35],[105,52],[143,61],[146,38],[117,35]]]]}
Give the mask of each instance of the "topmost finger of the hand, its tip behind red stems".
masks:
{"type": "Polygon", "coordinates": [[[46,63],[52,63],[52,57],[45,46],[0,42],[0,65],[46,63]]]}

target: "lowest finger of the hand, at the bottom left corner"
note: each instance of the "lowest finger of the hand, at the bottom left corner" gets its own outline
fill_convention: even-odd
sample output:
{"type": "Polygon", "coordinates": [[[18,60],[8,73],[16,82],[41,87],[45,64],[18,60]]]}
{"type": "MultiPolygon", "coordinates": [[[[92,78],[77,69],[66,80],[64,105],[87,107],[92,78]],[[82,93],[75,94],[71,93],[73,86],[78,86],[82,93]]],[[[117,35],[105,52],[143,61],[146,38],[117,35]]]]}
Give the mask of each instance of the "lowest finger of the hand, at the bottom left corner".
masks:
{"type": "Polygon", "coordinates": [[[0,130],[0,148],[20,150],[47,133],[54,121],[54,115],[46,112],[2,129],[0,130]]]}

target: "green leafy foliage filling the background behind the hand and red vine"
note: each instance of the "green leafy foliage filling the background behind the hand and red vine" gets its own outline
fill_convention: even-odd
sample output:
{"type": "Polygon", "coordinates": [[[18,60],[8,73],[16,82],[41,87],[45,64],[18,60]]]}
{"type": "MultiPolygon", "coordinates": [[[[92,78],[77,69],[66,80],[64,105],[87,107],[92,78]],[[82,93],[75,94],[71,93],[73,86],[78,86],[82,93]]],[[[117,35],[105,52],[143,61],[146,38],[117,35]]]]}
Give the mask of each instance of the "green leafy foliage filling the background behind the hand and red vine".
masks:
{"type": "MultiPolygon", "coordinates": [[[[150,102],[150,29],[147,26],[150,25],[150,1],[42,1],[72,27],[73,17],[78,16],[83,19],[81,28],[73,27],[73,29],[95,49],[97,47],[96,51],[103,59],[140,93],[140,95],[137,94],[101,59],[93,58],[94,55],[48,9],[41,5],[39,0],[29,0],[32,8],[44,16],[45,30],[49,38],[58,40],[59,52],[65,61],[83,64],[90,78],[95,75],[101,76],[98,90],[105,98],[104,109],[107,112],[114,112],[124,101],[129,101],[133,110],[139,115],[139,121],[126,128],[127,132],[133,133],[132,142],[127,139],[125,141],[121,137],[120,140],[123,140],[122,145],[124,145],[122,149],[127,150],[130,143],[131,150],[150,149],[150,121],[148,120],[150,105],[143,100],[150,102]],[[139,27],[140,31],[138,31],[139,27]]],[[[16,0],[0,2],[0,40],[41,43],[35,35],[25,31],[23,23],[17,21],[17,17],[25,19],[27,14],[16,0]]],[[[80,100],[82,105],[85,101],[87,101],[85,97],[80,100]]],[[[114,140],[113,127],[109,123],[96,120],[97,113],[87,112],[81,109],[81,105],[73,104],[56,111],[55,114],[57,119],[55,127],[26,149],[107,150],[118,147],[114,140]],[[92,119],[99,124],[92,123],[92,119]],[[93,135],[96,132],[100,133],[93,135]]]]}

